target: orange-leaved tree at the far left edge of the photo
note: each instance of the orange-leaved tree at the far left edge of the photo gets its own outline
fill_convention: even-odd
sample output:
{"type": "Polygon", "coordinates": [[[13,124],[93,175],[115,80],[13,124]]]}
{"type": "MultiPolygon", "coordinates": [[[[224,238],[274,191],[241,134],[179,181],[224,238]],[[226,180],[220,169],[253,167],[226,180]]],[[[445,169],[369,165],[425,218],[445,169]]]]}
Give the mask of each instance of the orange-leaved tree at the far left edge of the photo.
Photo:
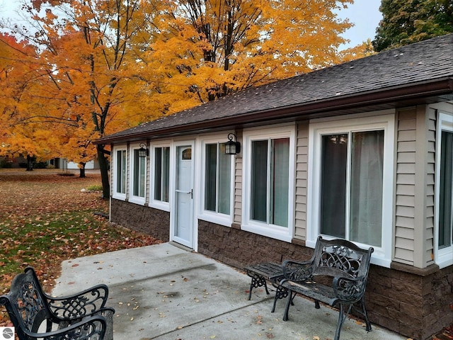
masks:
{"type": "Polygon", "coordinates": [[[29,160],[28,170],[32,159],[57,157],[56,134],[40,119],[42,98],[31,97],[41,87],[36,60],[28,42],[0,34],[0,156],[22,154],[29,160]]]}

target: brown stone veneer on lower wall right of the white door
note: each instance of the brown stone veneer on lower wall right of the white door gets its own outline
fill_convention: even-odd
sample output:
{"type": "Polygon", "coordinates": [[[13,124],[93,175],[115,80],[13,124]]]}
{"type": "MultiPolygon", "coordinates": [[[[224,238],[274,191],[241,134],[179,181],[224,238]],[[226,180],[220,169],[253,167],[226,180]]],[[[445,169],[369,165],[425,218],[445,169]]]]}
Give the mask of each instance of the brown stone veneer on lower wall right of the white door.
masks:
{"type": "MultiPolygon", "coordinates": [[[[304,242],[288,244],[235,227],[199,221],[198,251],[230,266],[285,259],[311,258],[304,242]]],[[[413,267],[372,265],[365,296],[369,319],[415,340],[430,336],[453,322],[453,266],[430,273],[409,273],[413,267]]]]}

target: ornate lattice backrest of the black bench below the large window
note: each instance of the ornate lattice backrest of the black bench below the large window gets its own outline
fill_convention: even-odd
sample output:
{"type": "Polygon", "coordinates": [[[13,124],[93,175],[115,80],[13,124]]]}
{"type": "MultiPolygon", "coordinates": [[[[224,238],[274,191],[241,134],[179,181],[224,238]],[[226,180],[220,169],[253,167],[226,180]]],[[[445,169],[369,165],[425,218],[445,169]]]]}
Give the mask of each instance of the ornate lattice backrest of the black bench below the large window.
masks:
{"type": "Polygon", "coordinates": [[[365,276],[371,252],[343,239],[318,239],[314,251],[313,275],[365,276]]]}

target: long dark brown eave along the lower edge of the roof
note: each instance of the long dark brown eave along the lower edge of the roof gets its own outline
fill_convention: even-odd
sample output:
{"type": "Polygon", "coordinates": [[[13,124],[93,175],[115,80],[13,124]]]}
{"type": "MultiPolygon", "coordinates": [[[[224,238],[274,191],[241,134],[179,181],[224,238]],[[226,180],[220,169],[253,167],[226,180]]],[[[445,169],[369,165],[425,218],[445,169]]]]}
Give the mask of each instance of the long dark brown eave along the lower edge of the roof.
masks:
{"type": "Polygon", "coordinates": [[[170,128],[162,128],[152,131],[132,133],[130,135],[105,136],[94,141],[94,144],[115,144],[128,140],[146,140],[157,137],[169,137],[172,135],[188,134],[193,132],[219,130],[221,128],[234,128],[237,126],[250,125],[260,121],[269,120],[302,120],[309,119],[316,113],[341,112],[345,110],[379,106],[391,103],[397,107],[398,103],[420,100],[423,98],[453,94],[453,77],[444,77],[432,81],[423,81],[409,86],[394,86],[379,91],[368,91],[360,94],[326,98],[309,103],[296,104],[281,108],[272,108],[266,111],[253,111],[241,115],[217,118],[215,120],[203,120],[196,123],[177,125],[170,128]]]}

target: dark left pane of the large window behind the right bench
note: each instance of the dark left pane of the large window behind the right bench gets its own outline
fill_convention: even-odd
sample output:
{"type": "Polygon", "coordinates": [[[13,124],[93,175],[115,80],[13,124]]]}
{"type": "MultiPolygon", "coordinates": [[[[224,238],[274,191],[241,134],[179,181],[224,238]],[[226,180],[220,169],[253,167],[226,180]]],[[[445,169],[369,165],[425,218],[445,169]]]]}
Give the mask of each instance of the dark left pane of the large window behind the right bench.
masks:
{"type": "Polygon", "coordinates": [[[348,135],[322,136],[321,233],[345,237],[348,135]]]}

